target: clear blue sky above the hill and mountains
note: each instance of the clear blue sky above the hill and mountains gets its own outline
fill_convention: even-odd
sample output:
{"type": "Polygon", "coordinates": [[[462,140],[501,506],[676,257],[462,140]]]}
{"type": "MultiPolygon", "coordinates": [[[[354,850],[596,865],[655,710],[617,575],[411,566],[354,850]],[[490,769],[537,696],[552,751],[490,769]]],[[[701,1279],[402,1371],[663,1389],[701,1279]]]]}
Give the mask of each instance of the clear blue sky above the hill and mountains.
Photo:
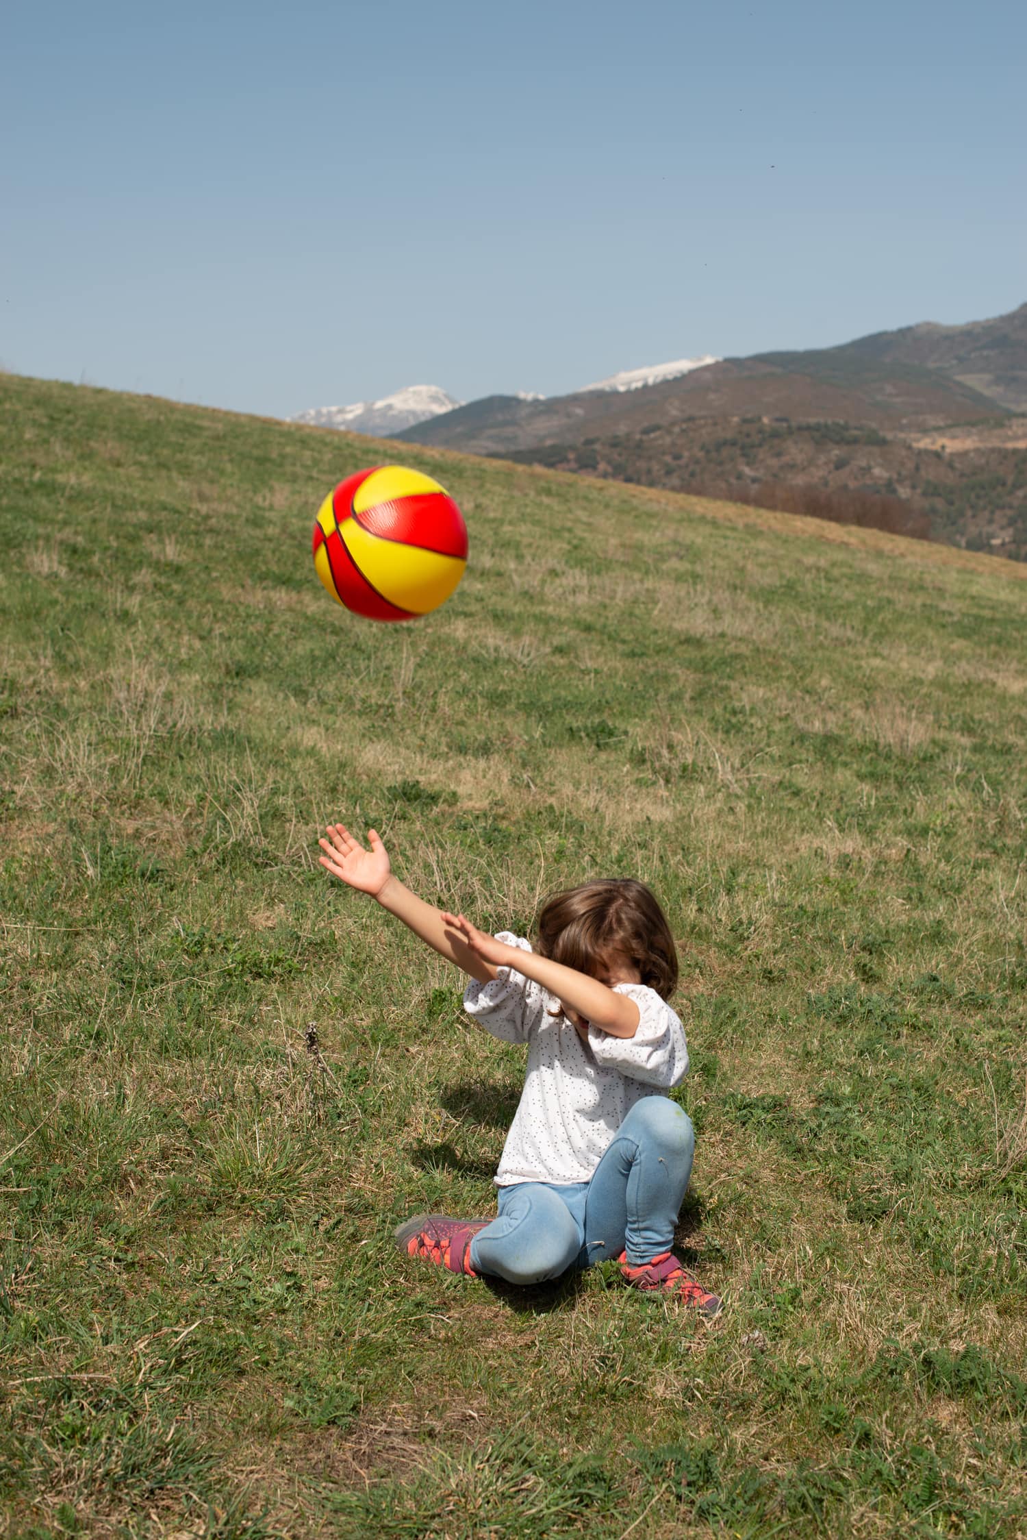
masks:
{"type": "Polygon", "coordinates": [[[1022,0],[20,0],[0,362],[288,416],[1027,300],[1022,0]]]}

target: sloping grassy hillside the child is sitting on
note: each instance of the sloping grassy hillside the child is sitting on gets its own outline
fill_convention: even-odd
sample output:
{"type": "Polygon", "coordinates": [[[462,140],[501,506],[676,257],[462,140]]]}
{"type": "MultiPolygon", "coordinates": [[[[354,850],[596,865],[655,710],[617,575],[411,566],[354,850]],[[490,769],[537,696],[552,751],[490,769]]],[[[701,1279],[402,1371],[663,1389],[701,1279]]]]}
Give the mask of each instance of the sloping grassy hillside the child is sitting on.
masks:
{"type": "Polygon", "coordinates": [[[394,442],[3,377],[0,447],[0,1532],[1022,1535],[1024,568],[403,445],[471,561],[376,627],[309,530],[394,442]],[[522,1066],[339,815],[491,927],[661,893],[718,1324],[393,1250],[522,1066]]]}

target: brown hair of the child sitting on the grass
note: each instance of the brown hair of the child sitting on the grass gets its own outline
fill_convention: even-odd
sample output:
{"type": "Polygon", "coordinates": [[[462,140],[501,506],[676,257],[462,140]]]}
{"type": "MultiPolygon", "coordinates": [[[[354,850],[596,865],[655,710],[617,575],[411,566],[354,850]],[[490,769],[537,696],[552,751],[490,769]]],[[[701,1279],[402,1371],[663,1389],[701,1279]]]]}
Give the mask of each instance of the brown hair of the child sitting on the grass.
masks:
{"type": "Polygon", "coordinates": [[[677,986],[677,949],[667,916],[645,882],[600,878],[542,906],[539,953],[553,962],[593,975],[611,953],[621,953],[662,999],[677,986]]]}

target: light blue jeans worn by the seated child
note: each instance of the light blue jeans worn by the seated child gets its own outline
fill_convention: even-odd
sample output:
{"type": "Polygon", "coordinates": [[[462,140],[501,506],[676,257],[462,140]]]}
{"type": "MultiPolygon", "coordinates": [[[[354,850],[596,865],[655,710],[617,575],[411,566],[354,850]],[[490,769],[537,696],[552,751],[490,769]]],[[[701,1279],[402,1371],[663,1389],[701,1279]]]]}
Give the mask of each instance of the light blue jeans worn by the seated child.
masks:
{"type": "Polygon", "coordinates": [[[668,1096],[642,1096],[591,1181],[519,1181],[471,1241],[474,1272],[542,1283],[627,1250],[631,1264],[668,1252],[691,1175],[691,1118],[668,1096]]]}

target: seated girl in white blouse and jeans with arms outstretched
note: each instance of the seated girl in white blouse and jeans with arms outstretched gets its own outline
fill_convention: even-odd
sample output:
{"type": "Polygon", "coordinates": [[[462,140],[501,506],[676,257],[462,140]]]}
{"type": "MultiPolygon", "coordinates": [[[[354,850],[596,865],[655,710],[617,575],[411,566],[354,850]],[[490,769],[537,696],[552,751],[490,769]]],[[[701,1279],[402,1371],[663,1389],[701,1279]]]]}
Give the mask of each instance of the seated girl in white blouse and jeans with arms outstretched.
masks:
{"type": "Polygon", "coordinates": [[[528,1046],[496,1173],[497,1218],[422,1214],[396,1230],[400,1249],[519,1284],[616,1258],[636,1289],[716,1315],[719,1298],[670,1249],[694,1140],[688,1115],[664,1095],[684,1080],[688,1049],[667,1004],[677,953],[650,890],[611,878],[551,898],[533,952],[411,893],[376,830],[370,850],[342,824],[326,833],[322,865],[468,973],[463,1007],[493,1036],[528,1046]]]}

